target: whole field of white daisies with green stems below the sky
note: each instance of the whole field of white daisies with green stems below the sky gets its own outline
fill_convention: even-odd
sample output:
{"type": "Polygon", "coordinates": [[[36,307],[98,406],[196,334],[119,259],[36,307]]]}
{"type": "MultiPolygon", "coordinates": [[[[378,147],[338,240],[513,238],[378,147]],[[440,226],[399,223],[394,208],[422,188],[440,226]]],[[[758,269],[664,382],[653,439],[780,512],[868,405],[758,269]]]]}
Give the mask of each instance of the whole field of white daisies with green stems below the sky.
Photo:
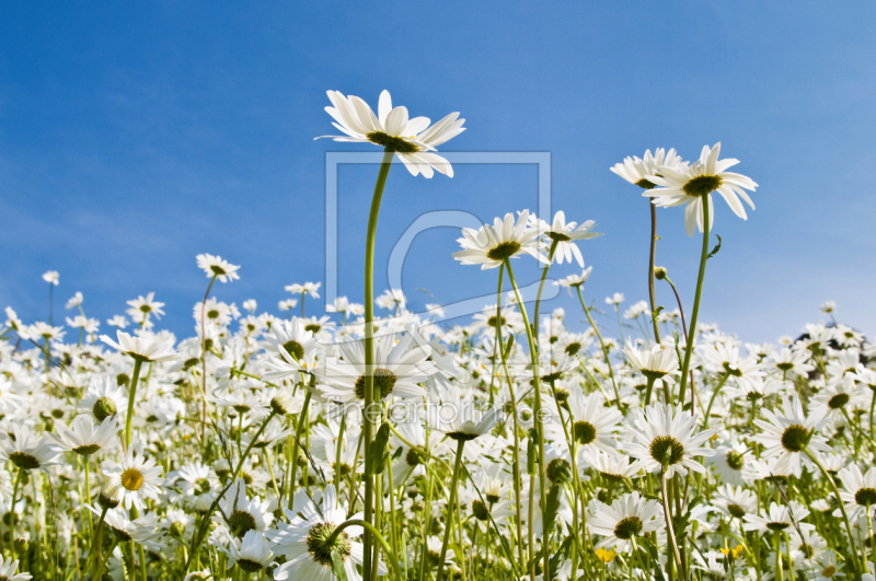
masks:
{"type": "Polygon", "coordinates": [[[373,248],[393,164],[452,177],[436,148],[464,119],[328,98],[327,137],[384,151],[364,304],[314,315],[306,282],[275,314],[239,309],[221,295],[245,269],[203,254],[194,337],[161,329],[151,292],[104,323],[80,293],[46,321],[7,307],[0,581],[874,579],[876,348],[832,303],[776,345],[698,324],[715,205],[754,208],[719,143],[611,169],[650,207],[647,300],[588,294],[592,221],[522,210],[462,231],[459,268],[496,294],[451,325],[374,297],[373,248]],[[657,263],[658,214],[682,210],[690,304],[657,263]],[[583,313],[540,311],[546,284],[583,313]]]}

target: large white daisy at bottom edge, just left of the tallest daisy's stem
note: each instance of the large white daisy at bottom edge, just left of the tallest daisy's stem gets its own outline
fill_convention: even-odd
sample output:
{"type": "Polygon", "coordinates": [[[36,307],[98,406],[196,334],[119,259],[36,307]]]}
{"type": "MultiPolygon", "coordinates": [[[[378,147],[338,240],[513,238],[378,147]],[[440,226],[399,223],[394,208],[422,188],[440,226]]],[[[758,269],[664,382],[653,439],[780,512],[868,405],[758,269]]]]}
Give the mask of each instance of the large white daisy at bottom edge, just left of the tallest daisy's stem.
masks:
{"type": "MultiPolygon", "coordinates": [[[[364,549],[361,543],[353,538],[361,536],[362,527],[347,526],[330,543],[337,525],[347,521],[347,509],[338,502],[334,485],[325,487],[321,510],[308,501],[301,510],[286,511],[286,514],[289,524],[278,522],[278,530],[267,533],[277,554],[286,557],[286,562],[275,569],[274,579],[330,581],[334,579],[332,566],[336,556],[344,563],[347,579],[361,580],[356,566],[362,565],[364,549]]],[[[361,513],[350,518],[360,519],[361,513]]],[[[378,561],[378,574],[387,574],[381,561],[378,561]]]]}

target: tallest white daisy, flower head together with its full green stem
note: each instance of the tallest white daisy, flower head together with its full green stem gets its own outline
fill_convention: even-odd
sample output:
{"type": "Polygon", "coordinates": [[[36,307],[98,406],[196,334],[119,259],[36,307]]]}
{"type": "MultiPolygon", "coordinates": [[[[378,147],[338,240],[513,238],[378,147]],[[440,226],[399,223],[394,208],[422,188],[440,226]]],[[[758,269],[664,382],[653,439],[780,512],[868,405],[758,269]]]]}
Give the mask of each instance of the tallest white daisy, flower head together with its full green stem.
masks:
{"type": "MultiPolygon", "coordinates": [[[[465,119],[459,119],[459,113],[451,113],[437,124],[429,126],[427,117],[408,118],[407,107],[393,107],[389,91],[380,93],[378,115],[361,98],[344,96],[338,91],[328,91],[331,107],[325,112],[334,118],[334,125],[344,136],[322,136],[335,141],[369,142],[383,148],[383,161],[380,164],[374,195],[371,198],[371,212],[368,217],[368,234],[365,245],[365,364],[369,370],[365,376],[365,415],[362,422],[362,443],[366,456],[371,449],[373,433],[371,405],[374,403],[374,380],[371,372],[373,364],[373,317],[374,317],[374,239],[377,237],[377,219],[380,213],[380,200],[383,187],[390,173],[392,159],[397,155],[412,175],[435,175],[435,170],[453,177],[453,167],[447,160],[434,153],[436,147],[447,142],[465,129],[465,119]]],[[[316,138],[319,139],[319,138],[316,138]]],[[[367,460],[366,460],[367,462],[367,460]]],[[[371,524],[373,512],[372,476],[365,479],[365,522],[371,524]]],[[[365,578],[371,578],[371,537],[365,535],[365,578]]]]}

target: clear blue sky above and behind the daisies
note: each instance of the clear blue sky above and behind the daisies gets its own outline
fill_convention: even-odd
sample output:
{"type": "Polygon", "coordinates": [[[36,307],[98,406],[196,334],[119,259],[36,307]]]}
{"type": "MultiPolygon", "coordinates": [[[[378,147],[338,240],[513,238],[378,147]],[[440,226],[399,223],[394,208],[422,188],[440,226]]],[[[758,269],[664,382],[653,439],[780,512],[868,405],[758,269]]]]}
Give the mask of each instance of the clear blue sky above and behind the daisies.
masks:
{"type": "MultiPolygon", "coordinates": [[[[313,141],[334,132],[325,91],[376,107],[388,89],[412,115],[461,112],[469,130],[446,151],[551,153],[553,211],[606,233],[581,244],[595,268],[586,294],[600,304],[616,291],[626,305],[646,298],[647,205],[609,166],[722,141],[760,187],[748,221],[718,202],[724,245],[701,321],[774,340],[833,299],[840,321],[873,335],[875,18],[872,2],[7,2],[0,306],[44,318],[41,275],[56,269],[56,310],[82,291],[103,322],[154,291],[162,323],[191,335],[207,283],[195,255],[208,252],[242,265],[218,298],[276,312],[284,286],[325,279],[326,151],[374,151],[313,141]]],[[[339,174],[339,291],[354,300],[376,175],[339,174]]],[[[393,166],[378,289],[424,212],[487,221],[534,210],[535,195],[531,165],[430,181],[393,166]]],[[[689,310],[700,239],[681,209],[658,218],[657,262],[689,310]]],[[[457,237],[441,228],[414,241],[403,275],[414,307],[495,289],[495,271],[454,263],[457,237]]],[[[520,265],[531,282],[533,265],[520,265]]],[[[658,287],[658,303],[670,299],[658,287]]],[[[565,294],[555,306],[583,318],[565,294]]]]}

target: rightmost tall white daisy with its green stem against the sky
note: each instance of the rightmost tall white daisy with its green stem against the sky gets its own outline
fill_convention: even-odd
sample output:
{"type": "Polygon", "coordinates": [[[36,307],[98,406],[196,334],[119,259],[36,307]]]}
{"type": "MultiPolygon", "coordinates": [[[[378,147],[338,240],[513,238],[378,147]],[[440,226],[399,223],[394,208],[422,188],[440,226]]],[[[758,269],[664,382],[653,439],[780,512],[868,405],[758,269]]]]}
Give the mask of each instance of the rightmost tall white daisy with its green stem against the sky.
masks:
{"type": "Polygon", "coordinates": [[[721,194],[734,213],[744,220],[747,219],[747,216],[739,197],[746,200],[752,210],[754,209],[754,204],[745,193],[745,189],[753,191],[758,184],[750,177],[727,172],[727,169],[739,163],[739,160],[726,159],[718,161],[718,153],[721,153],[719,142],[715,143],[713,148],[703,146],[700,160],[690,166],[661,166],[659,174],[649,175],[647,179],[662,187],[648,189],[643,194],[645,197],[655,198],[655,206],[685,206],[684,225],[688,230],[688,235],[693,235],[694,225],[699,225],[703,233],[703,251],[700,255],[696,294],[693,298],[688,345],[684,349],[684,362],[681,365],[681,387],[679,391],[681,394],[684,393],[684,387],[688,385],[688,370],[690,369],[693,344],[696,337],[696,317],[700,314],[700,299],[703,294],[705,262],[708,259],[708,232],[715,219],[712,193],[717,191],[721,194]]]}

